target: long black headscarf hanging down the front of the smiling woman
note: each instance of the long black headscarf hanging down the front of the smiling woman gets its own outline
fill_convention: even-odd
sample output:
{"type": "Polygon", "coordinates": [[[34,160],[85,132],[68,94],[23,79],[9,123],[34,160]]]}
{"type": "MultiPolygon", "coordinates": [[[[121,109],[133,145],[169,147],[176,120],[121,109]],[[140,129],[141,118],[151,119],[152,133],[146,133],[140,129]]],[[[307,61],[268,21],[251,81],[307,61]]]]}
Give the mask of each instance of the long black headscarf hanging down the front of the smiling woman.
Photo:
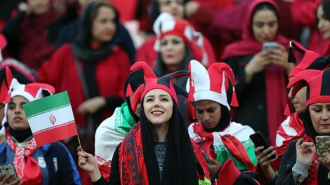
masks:
{"type": "MultiPolygon", "coordinates": [[[[142,100],[143,102],[143,100],[142,100]]],[[[183,118],[176,105],[170,119],[162,182],[155,157],[155,140],[141,105],[141,132],[149,184],[198,184],[197,159],[183,118]]]]}

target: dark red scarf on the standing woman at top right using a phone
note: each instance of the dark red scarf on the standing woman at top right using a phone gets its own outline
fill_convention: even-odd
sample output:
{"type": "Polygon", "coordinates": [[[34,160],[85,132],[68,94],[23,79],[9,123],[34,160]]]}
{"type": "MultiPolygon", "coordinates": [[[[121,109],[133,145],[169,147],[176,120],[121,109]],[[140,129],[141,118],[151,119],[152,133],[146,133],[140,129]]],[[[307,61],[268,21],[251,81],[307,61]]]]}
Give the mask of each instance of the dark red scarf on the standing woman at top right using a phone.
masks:
{"type": "MultiPolygon", "coordinates": [[[[251,18],[252,12],[256,5],[260,3],[270,3],[274,5],[278,12],[278,7],[271,0],[257,0],[254,1],[249,9],[248,14],[245,19],[245,24],[243,26],[243,40],[234,42],[225,48],[223,53],[223,59],[228,59],[234,56],[248,56],[259,53],[262,50],[263,44],[255,40],[252,34],[251,18]]],[[[273,40],[279,44],[289,47],[289,40],[284,36],[277,35],[273,40]]],[[[286,78],[285,70],[282,66],[271,65],[267,66],[265,69],[265,87],[266,87],[266,102],[267,102],[267,123],[268,132],[270,134],[270,143],[275,144],[276,132],[274,130],[278,129],[278,126],[285,119],[283,112],[285,112],[286,106],[286,78]]]]}

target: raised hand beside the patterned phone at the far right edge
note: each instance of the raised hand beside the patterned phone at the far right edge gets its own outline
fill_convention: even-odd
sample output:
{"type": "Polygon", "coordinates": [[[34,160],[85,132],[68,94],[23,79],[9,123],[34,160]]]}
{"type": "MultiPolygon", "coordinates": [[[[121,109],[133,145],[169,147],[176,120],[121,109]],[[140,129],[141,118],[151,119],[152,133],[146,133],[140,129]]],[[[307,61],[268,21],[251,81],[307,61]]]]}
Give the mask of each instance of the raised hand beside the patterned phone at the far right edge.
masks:
{"type": "Polygon", "coordinates": [[[297,160],[304,164],[311,165],[314,160],[314,153],[316,147],[314,143],[303,142],[303,138],[300,138],[296,143],[297,160]]]}

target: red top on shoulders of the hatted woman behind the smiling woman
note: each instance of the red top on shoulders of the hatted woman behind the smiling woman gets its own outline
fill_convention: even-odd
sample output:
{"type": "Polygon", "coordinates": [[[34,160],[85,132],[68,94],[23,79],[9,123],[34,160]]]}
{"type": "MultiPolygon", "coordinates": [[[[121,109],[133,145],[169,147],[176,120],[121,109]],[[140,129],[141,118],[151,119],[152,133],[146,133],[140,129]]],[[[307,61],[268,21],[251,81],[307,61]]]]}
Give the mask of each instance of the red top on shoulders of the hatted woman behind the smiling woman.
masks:
{"type": "MultiPolygon", "coordinates": [[[[152,36],[151,38],[148,38],[148,40],[144,41],[143,45],[137,50],[135,61],[144,61],[149,66],[153,67],[155,65],[155,61],[157,59],[157,51],[153,49],[153,46],[155,45],[156,36],[152,36]]],[[[212,46],[210,44],[210,41],[208,41],[206,38],[203,38],[203,47],[206,51],[206,54],[208,56],[208,66],[210,64],[217,62],[214,57],[214,51],[212,49],[212,46]]],[[[201,62],[201,53],[193,53],[192,56],[195,60],[199,60],[201,62]],[[199,56],[199,57],[197,57],[199,56]]]]}

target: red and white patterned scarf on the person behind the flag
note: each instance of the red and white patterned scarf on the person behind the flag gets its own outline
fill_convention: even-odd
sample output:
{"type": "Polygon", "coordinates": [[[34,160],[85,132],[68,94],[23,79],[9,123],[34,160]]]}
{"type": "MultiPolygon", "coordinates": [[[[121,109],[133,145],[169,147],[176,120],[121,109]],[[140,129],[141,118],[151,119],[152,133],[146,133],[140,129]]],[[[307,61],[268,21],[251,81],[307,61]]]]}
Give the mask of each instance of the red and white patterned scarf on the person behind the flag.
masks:
{"type": "Polygon", "coordinates": [[[32,157],[32,153],[38,149],[36,147],[36,140],[32,138],[24,147],[17,147],[8,132],[7,143],[8,147],[15,151],[14,161],[12,163],[23,184],[41,184],[41,169],[38,162],[32,157]]]}

